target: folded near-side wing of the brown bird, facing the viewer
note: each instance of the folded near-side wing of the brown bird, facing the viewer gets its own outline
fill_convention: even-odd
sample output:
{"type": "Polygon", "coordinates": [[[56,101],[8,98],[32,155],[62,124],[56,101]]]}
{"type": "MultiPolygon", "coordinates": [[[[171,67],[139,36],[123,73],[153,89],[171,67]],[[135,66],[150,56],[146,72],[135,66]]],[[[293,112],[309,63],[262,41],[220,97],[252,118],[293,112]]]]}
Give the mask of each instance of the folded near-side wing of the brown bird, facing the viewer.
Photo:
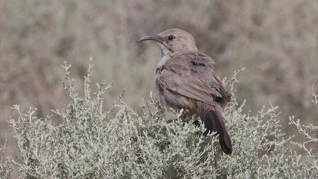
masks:
{"type": "Polygon", "coordinates": [[[159,81],[162,89],[174,91],[213,106],[217,105],[213,100],[215,91],[195,76],[181,76],[163,69],[159,81]]]}

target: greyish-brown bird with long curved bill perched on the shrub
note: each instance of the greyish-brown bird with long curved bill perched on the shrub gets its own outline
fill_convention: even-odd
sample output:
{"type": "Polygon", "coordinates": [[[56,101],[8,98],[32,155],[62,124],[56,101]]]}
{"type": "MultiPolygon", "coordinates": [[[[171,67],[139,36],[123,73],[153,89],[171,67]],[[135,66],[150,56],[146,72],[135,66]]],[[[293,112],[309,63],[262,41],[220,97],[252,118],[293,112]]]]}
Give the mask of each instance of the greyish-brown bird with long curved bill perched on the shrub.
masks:
{"type": "Polygon", "coordinates": [[[232,154],[221,112],[232,93],[214,73],[215,62],[198,52],[190,33],[177,28],[141,37],[136,43],[144,40],[155,40],[161,48],[162,59],[155,72],[155,93],[161,105],[165,109],[183,108],[190,115],[199,113],[207,129],[204,135],[216,131],[224,153],[232,154]]]}

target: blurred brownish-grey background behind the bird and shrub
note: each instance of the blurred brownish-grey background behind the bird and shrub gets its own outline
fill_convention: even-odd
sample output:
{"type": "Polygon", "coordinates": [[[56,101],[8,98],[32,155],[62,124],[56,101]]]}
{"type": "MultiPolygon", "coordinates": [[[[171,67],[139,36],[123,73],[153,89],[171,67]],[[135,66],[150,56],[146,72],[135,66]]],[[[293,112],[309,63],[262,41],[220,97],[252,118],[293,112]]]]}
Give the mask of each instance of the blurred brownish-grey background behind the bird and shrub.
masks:
{"type": "MultiPolygon", "coordinates": [[[[12,104],[50,109],[69,102],[62,81],[63,61],[82,94],[88,57],[93,78],[115,86],[104,95],[105,109],[126,88],[124,100],[140,110],[149,100],[161,59],[144,35],[180,28],[196,39],[200,52],[217,63],[216,73],[239,73],[235,97],[245,111],[279,105],[283,130],[293,134],[288,116],[318,124],[311,86],[318,93],[317,0],[0,0],[0,145],[18,150],[7,127],[12,104]]],[[[59,122],[56,116],[52,120],[59,122]]],[[[301,139],[298,139],[301,140],[301,139]]]]}

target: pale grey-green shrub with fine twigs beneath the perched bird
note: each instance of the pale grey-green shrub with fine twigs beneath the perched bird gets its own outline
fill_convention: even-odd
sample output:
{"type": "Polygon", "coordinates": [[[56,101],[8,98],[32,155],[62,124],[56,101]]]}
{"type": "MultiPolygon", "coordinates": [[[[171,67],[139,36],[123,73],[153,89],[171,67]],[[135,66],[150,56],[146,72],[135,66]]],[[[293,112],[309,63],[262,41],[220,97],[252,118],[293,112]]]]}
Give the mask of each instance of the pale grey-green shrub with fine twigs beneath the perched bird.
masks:
{"type": "MultiPolygon", "coordinates": [[[[152,92],[148,102],[141,100],[140,114],[122,100],[123,93],[105,110],[102,94],[113,83],[96,84],[98,90],[92,95],[91,63],[84,81],[84,96],[79,96],[73,86],[75,80],[70,78],[70,67],[66,62],[62,66],[64,89],[71,102],[61,111],[52,110],[52,115],[61,117],[61,124],[52,123],[52,115],[37,118],[36,108],[23,112],[19,105],[13,105],[12,110],[20,117],[10,119],[9,124],[21,157],[5,157],[5,164],[0,166],[2,178],[8,178],[12,165],[17,166],[20,178],[28,179],[318,177],[317,153],[306,147],[307,143],[317,145],[317,126],[301,126],[299,120],[290,117],[290,124],[308,139],[303,144],[295,143],[293,136],[281,132],[278,107],[263,107],[256,116],[250,116],[242,112],[245,101],[238,104],[234,98],[224,110],[234,147],[234,153],[228,156],[222,152],[217,136],[202,135],[205,129],[200,119],[200,126],[193,124],[197,117],[184,121],[181,110],[173,111],[175,119],[164,118],[164,110],[152,92]],[[110,118],[114,109],[116,116],[110,118]],[[301,147],[304,155],[297,154],[291,145],[301,147]]],[[[237,73],[227,81],[233,92],[237,73]]],[[[1,162],[2,158],[3,155],[1,162]]]]}

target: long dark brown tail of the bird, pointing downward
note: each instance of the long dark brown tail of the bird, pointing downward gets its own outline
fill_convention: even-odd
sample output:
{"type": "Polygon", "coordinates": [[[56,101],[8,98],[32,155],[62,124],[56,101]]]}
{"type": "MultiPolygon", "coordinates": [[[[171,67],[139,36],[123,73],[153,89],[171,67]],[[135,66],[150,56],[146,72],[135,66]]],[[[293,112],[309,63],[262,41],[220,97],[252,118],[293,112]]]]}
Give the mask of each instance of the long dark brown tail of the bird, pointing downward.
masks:
{"type": "Polygon", "coordinates": [[[217,134],[220,134],[219,140],[223,152],[231,155],[233,151],[231,139],[225,128],[220,107],[198,101],[198,111],[205,128],[207,128],[204,135],[207,135],[209,132],[216,131],[217,134]]]}

